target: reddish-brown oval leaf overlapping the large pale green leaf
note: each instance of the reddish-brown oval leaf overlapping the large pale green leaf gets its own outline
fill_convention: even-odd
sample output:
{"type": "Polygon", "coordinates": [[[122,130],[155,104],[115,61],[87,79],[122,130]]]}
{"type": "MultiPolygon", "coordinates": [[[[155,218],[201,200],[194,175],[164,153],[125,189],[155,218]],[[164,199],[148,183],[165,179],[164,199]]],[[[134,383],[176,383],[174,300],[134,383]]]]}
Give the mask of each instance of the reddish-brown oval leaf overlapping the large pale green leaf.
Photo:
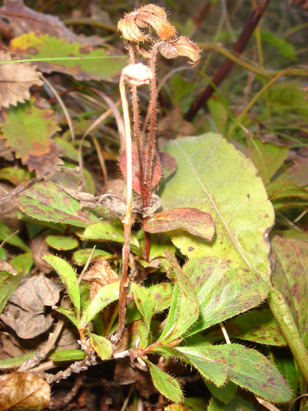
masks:
{"type": "Polygon", "coordinates": [[[215,233],[211,216],[196,208],[174,208],[162,211],[144,223],[144,230],[150,233],[164,233],[175,229],[185,229],[190,234],[209,241],[215,233]]]}

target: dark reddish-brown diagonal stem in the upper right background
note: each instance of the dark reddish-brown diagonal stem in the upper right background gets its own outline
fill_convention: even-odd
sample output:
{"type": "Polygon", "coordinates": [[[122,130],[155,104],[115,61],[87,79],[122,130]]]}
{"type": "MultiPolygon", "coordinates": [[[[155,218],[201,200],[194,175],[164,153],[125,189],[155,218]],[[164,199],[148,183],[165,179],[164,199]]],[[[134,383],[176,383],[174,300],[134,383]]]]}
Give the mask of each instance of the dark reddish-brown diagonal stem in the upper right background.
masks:
{"type": "MultiPolygon", "coordinates": [[[[235,53],[242,53],[244,50],[249,38],[251,38],[251,34],[253,34],[253,31],[257,24],[259,23],[259,20],[261,16],[264,14],[266,7],[270,0],[261,0],[255,10],[251,13],[251,16],[249,16],[248,20],[246,21],[246,24],[244,25],[244,28],[242,30],[242,33],[240,34],[240,37],[238,38],[238,41],[235,43],[235,46],[233,47],[233,51],[235,53]]],[[[216,73],[213,83],[218,86],[224,77],[227,76],[229,71],[231,70],[231,67],[233,66],[233,62],[227,58],[227,60],[224,61],[218,72],[216,73]]],[[[192,103],[190,110],[185,114],[185,120],[187,121],[192,121],[194,119],[194,116],[196,116],[198,110],[205,105],[209,97],[214,92],[214,88],[209,85],[203,92],[201,92],[201,95],[197,97],[197,99],[192,103]]]]}

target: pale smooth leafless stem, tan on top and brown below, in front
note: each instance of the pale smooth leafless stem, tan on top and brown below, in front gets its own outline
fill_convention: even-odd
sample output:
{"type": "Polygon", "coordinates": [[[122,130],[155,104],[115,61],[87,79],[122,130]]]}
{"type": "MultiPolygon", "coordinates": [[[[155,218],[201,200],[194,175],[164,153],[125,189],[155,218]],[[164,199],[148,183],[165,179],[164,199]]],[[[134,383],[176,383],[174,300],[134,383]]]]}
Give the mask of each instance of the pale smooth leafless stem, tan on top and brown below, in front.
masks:
{"type": "Polygon", "coordinates": [[[125,137],[126,137],[126,155],[127,155],[127,201],[126,201],[126,214],[123,220],[124,225],[124,245],[123,245],[123,265],[120,277],[120,296],[118,301],[118,329],[112,341],[114,345],[117,345],[120,338],[123,336],[125,325],[125,313],[126,313],[126,292],[128,286],[127,271],[129,266],[129,252],[131,246],[131,206],[133,199],[132,188],[132,159],[131,159],[131,125],[129,121],[129,105],[127,102],[125,91],[125,77],[120,77],[120,95],[123,105],[123,116],[125,125],[125,137]]]}

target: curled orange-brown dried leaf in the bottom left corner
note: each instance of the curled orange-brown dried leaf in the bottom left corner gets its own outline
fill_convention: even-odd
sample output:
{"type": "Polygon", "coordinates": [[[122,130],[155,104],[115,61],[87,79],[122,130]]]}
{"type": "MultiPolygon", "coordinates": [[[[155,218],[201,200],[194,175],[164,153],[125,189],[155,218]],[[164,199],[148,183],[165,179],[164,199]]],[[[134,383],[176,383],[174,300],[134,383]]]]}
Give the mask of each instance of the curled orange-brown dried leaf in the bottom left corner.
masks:
{"type": "Polygon", "coordinates": [[[31,373],[0,375],[0,411],[49,408],[50,386],[31,373]]]}

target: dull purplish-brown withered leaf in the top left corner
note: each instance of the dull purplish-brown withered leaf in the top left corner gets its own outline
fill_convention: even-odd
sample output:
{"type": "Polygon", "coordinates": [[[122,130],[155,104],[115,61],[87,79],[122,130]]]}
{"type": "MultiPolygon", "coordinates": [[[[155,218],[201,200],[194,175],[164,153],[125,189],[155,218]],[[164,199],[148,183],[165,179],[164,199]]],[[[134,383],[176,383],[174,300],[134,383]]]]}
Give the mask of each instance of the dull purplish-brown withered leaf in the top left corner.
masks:
{"type": "Polygon", "coordinates": [[[0,8],[0,16],[8,18],[14,37],[34,32],[92,46],[100,45],[103,42],[103,39],[98,36],[77,36],[60,21],[60,18],[35,12],[27,7],[22,0],[5,0],[3,7],[0,8]]]}

